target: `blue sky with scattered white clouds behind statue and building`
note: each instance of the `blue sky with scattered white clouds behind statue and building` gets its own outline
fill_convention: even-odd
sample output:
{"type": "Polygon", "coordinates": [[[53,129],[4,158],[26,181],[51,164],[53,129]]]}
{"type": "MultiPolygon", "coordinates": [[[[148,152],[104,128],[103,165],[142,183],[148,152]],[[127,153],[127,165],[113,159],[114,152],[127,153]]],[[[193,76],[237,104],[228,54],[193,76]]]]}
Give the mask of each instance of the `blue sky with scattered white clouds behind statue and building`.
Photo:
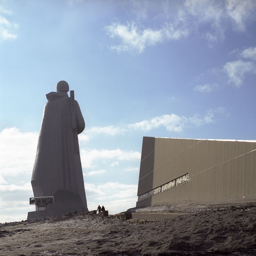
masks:
{"type": "Polygon", "coordinates": [[[89,210],[134,207],[143,136],[255,140],[255,0],[0,0],[0,222],[26,219],[45,94],[66,80],[89,210]]]}

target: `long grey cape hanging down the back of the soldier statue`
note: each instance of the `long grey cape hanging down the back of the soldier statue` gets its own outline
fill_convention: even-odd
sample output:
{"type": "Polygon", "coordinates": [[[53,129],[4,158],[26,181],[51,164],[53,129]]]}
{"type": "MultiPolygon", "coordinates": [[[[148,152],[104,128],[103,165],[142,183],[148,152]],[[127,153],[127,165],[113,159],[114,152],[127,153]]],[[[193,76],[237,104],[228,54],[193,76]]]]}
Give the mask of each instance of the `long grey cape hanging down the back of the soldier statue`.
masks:
{"type": "MultiPolygon", "coordinates": [[[[50,92],[46,97],[31,179],[34,196],[68,190],[79,194],[86,205],[80,154],[74,152],[77,132],[74,135],[72,129],[70,98],[60,92],[50,92]]],[[[76,111],[82,116],[79,106],[76,111]]]]}

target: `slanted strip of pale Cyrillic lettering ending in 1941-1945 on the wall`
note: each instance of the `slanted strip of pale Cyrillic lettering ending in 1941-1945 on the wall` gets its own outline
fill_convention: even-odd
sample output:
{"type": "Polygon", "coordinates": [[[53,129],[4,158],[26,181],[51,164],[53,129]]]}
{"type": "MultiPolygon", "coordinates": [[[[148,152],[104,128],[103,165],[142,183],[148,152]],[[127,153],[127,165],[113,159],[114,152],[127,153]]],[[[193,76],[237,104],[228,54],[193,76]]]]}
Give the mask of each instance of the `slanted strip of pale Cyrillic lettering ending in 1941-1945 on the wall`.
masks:
{"type": "Polygon", "coordinates": [[[187,182],[188,182],[188,173],[138,196],[138,201],[148,198],[150,196],[154,196],[154,195],[164,192],[168,189],[175,188],[175,187],[177,187],[181,184],[187,183],[187,182]]]}

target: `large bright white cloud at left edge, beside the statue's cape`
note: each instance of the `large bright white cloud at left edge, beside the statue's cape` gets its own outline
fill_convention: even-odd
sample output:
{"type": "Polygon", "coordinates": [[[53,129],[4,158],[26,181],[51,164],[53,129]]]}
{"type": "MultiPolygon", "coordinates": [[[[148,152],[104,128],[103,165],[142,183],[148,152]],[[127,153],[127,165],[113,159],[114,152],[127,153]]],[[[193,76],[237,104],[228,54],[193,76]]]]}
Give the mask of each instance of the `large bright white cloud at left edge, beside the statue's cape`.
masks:
{"type": "Polygon", "coordinates": [[[16,127],[0,132],[0,175],[32,173],[37,140],[37,132],[20,132],[16,127]]]}

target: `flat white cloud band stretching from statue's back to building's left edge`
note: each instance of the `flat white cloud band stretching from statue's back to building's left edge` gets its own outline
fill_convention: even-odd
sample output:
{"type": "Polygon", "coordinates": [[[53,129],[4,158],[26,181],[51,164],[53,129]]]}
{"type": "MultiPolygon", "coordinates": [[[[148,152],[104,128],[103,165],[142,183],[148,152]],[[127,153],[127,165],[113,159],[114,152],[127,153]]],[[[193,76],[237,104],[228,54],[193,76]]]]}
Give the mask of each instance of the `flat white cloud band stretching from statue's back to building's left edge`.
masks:
{"type": "Polygon", "coordinates": [[[81,149],[80,152],[81,162],[83,168],[95,168],[97,164],[95,160],[99,159],[117,159],[119,161],[138,161],[140,160],[141,153],[138,151],[121,150],[119,148],[109,149],[81,149]]]}

